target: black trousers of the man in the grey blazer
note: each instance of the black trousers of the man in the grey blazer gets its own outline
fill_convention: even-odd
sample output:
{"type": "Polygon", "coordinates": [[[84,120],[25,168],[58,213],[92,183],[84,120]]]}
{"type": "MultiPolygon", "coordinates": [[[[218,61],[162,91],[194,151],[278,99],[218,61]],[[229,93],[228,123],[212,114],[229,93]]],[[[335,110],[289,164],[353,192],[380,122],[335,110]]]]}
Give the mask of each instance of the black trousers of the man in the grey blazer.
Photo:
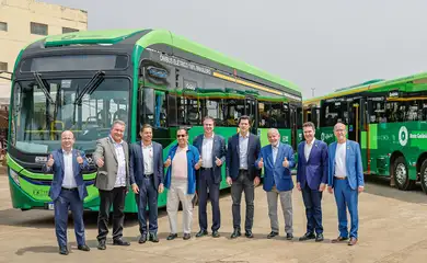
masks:
{"type": "Polygon", "coordinates": [[[125,221],[126,187],[115,187],[111,191],[100,190],[100,214],[97,216],[97,240],[105,240],[108,235],[109,209],[113,205],[113,240],[123,237],[125,221]]]}

